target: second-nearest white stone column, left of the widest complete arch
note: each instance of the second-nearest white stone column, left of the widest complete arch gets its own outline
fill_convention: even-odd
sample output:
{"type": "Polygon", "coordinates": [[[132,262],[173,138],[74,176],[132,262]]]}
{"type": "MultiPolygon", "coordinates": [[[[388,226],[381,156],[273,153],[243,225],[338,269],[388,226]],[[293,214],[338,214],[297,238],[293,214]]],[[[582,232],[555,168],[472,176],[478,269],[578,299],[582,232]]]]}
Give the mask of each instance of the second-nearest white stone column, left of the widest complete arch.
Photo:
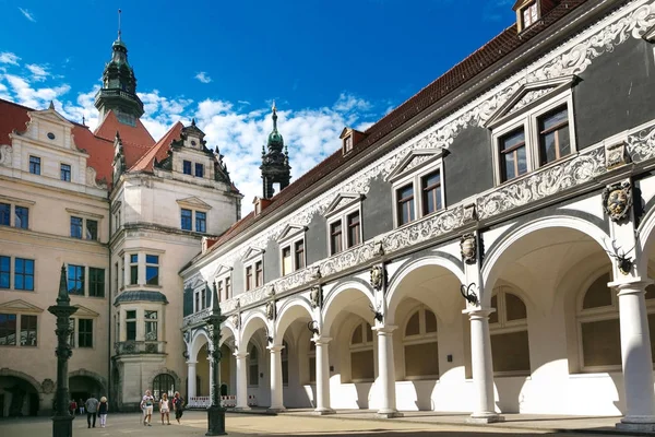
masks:
{"type": "Polygon", "coordinates": [[[478,401],[468,418],[468,422],[473,423],[493,423],[503,420],[496,413],[493,398],[493,363],[489,335],[489,315],[495,309],[491,308],[465,311],[471,318],[471,361],[478,401]]]}

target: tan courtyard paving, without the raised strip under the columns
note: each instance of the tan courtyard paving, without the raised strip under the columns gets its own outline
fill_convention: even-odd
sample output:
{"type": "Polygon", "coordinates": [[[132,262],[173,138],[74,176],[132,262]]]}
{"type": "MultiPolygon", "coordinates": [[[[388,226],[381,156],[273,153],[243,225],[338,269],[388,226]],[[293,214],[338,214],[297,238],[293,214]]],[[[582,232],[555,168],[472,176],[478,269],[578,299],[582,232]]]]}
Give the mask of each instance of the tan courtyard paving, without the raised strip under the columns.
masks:
{"type": "MultiPolygon", "coordinates": [[[[206,432],[206,413],[188,411],[182,423],[162,425],[153,415],[152,426],[143,426],[139,414],[109,414],[107,427],[87,428],[86,417],[78,416],[73,421],[75,437],[108,436],[204,436],[206,432]]],[[[427,424],[409,421],[372,421],[342,420],[334,417],[309,417],[297,415],[253,415],[227,414],[227,432],[234,436],[376,436],[376,437],[486,437],[486,436],[548,436],[555,435],[543,430],[525,430],[497,427],[473,427],[461,424],[427,424]]],[[[52,435],[51,421],[46,417],[2,420],[0,437],[49,437],[52,435]]],[[[582,434],[557,434],[558,437],[582,436],[582,434]]],[[[587,437],[595,436],[586,434],[587,437]]]]}

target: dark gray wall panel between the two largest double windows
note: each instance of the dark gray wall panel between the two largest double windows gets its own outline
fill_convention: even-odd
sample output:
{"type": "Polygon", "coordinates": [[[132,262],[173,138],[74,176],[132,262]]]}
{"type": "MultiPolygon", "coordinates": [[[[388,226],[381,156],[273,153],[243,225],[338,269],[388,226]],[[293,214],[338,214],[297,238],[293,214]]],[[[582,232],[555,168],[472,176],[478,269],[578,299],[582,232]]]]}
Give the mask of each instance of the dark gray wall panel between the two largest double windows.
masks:
{"type": "Polygon", "coordinates": [[[445,204],[452,205],[493,186],[491,133],[471,127],[462,131],[443,158],[445,204]]]}

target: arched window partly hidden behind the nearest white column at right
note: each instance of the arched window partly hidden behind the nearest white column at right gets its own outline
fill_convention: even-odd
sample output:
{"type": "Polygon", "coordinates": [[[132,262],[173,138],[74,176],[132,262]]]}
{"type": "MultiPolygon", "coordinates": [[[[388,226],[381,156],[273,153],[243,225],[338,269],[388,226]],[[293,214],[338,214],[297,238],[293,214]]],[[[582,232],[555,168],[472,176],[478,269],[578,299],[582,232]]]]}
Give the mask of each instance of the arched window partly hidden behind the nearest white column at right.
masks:
{"type": "MultiPolygon", "coordinates": [[[[621,368],[619,297],[616,291],[607,286],[610,281],[609,272],[602,274],[584,290],[584,294],[579,299],[577,324],[583,370],[600,371],[621,368]]],[[[646,307],[651,339],[655,339],[655,287],[653,285],[646,287],[646,307]]],[[[652,353],[653,345],[651,341],[652,353]]]]}

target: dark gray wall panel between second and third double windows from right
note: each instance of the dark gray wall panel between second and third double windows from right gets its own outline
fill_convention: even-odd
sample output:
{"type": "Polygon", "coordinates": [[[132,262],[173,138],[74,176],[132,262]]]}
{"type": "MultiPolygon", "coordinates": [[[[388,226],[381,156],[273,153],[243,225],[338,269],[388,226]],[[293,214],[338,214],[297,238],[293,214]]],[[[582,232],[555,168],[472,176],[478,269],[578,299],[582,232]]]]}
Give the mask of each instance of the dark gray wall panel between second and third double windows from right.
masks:
{"type": "Polygon", "coordinates": [[[391,184],[381,176],[372,179],[369,192],[361,203],[361,232],[364,240],[393,229],[391,184]]]}

